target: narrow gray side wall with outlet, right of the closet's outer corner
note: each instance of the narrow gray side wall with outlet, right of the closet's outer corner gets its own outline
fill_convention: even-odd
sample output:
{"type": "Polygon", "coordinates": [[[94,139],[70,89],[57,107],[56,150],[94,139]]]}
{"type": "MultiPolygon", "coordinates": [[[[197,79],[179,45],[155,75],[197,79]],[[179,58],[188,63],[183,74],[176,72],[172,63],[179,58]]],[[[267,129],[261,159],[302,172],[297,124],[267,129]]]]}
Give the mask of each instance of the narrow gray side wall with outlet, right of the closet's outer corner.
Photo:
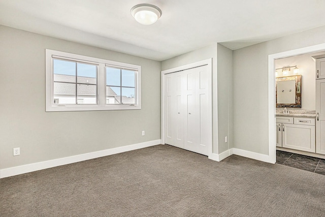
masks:
{"type": "Polygon", "coordinates": [[[233,148],[233,51],[217,45],[219,153],[233,148]],[[224,142],[224,137],[228,142],[224,142]]]}

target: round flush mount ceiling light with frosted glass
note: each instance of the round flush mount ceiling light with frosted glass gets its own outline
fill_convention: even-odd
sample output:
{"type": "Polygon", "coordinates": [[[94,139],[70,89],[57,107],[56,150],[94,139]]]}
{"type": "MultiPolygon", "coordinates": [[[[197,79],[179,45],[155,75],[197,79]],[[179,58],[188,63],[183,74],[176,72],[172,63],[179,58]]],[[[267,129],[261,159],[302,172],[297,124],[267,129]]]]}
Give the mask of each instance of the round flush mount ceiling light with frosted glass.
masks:
{"type": "Polygon", "coordinates": [[[150,25],[161,16],[161,10],[154,5],[140,4],[131,9],[131,14],[139,23],[150,25]]]}

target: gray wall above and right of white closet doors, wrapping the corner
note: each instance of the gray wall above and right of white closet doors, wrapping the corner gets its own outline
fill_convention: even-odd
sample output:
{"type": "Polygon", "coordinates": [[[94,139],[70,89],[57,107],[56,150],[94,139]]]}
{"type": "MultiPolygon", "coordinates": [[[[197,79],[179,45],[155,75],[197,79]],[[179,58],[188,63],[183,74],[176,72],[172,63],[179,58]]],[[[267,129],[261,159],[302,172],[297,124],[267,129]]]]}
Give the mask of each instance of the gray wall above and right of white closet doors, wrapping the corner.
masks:
{"type": "Polygon", "coordinates": [[[233,51],[213,44],[161,62],[161,70],[167,70],[208,58],[212,62],[212,106],[213,106],[213,153],[232,148],[232,60],[233,51]],[[218,58],[218,61],[217,61],[218,58]],[[220,60],[219,60],[220,59],[220,60]],[[218,94],[216,94],[218,93],[218,94]],[[216,109],[218,106],[218,113],[216,109]],[[218,125],[217,125],[218,118],[218,125]],[[218,136],[217,136],[218,135],[218,136]],[[229,142],[224,143],[224,137],[229,142]],[[219,143],[219,145],[218,145],[219,143]],[[218,147],[219,146],[219,147],[218,147]]]}

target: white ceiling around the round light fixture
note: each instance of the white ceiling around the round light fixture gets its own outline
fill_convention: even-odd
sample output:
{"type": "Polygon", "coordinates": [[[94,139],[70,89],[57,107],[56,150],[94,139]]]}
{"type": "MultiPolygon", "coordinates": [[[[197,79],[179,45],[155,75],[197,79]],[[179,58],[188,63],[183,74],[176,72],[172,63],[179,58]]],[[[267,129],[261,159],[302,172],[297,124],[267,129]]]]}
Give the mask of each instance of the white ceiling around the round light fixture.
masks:
{"type": "Polygon", "coordinates": [[[0,24],[161,61],[213,43],[234,50],[325,25],[325,1],[0,0],[0,24]],[[141,3],[163,15],[137,23],[130,10],[141,3]]]}

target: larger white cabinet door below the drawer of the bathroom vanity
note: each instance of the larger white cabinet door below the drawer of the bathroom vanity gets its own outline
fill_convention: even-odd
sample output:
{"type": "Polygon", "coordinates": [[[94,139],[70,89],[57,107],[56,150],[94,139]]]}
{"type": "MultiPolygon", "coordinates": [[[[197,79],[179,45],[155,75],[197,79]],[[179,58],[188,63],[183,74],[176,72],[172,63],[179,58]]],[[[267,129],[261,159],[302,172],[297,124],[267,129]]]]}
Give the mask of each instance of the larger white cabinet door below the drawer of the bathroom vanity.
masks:
{"type": "Polygon", "coordinates": [[[315,152],[315,126],[283,123],[282,147],[315,152]]]}

